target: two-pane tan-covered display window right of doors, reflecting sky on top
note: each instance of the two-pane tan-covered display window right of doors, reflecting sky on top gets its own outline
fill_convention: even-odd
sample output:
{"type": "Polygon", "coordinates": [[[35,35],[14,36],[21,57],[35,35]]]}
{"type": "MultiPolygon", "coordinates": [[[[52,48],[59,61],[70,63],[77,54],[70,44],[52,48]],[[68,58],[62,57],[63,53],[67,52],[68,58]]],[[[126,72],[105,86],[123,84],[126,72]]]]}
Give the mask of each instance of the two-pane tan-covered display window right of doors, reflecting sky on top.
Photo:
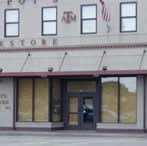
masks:
{"type": "Polygon", "coordinates": [[[136,77],[102,78],[102,122],[136,123],[136,102],[136,77]]]}

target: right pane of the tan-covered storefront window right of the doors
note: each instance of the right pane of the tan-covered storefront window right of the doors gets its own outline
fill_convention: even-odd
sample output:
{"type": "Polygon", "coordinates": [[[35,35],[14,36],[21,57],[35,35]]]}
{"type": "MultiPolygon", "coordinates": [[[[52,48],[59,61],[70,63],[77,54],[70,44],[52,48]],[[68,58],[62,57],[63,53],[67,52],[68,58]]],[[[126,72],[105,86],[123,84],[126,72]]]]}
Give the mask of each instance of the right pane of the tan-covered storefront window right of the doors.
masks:
{"type": "Polygon", "coordinates": [[[136,122],[136,78],[120,78],[120,122],[136,122]]]}

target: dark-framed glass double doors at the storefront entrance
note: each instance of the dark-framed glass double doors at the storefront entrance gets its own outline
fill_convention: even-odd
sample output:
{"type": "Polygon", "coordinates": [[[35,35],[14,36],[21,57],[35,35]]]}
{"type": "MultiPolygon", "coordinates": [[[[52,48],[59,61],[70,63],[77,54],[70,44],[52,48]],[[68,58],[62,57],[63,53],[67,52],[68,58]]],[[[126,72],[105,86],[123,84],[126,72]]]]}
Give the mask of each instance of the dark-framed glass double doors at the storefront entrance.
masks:
{"type": "Polygon", "coordinates": [[[68,129],[92,130],[94,125],[94,97],[68,96],[68,129]]]}

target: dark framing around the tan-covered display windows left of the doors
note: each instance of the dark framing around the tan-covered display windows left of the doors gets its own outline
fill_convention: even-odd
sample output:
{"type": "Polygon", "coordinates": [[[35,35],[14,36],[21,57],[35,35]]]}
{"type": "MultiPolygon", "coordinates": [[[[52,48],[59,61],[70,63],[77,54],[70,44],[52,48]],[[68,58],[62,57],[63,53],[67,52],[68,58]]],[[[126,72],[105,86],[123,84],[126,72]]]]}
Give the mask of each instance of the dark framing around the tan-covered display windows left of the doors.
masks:
{"type": "Polygon", "coordinates": [[[16,90],[16,96],[15,96],[15,101],[16,101],[16,113],[15,113],[15,119],[16,122],[32,122],[32,123],[48,123],[48,122],[54,122],[54,123],[58,123],[58,122],[63,122],[63,81],[60,78],[49,78],[47,77],[48,80],[48,121],[39,121],[39,120],[35,120],[34,116],[35,116],[35,80],[36,79],[42,79],[41,77],[18,77],[15,79],[15,90],[16,90]],[[31,79],[32,80],[32,120],[31,121],[24,121],[24,120],[19,120],[19,80],[21,79],[31,79]],[[53,100],[53,80],[54,79],[59,79],[60,81],[60,94],[61,94],[61,119],[60,121],[53,121],[52,120],[52,115],[53,115],[53,111],[52,111],[52,100],[53,100]]]}

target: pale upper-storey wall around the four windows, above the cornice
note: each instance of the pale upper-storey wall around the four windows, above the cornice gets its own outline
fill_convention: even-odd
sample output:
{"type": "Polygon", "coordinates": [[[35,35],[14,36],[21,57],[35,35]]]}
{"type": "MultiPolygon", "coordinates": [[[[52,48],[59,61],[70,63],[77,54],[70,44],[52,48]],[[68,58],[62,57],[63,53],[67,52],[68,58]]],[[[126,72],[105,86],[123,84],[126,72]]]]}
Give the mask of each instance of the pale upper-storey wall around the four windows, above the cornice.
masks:
{"type": "Polygon", "coordinates": [[[147,15],[146,0],[105,0],[106,7],[111,14],[111,32],[107,33],[106,24],[101,17],[101,5],[99,0],[25,0],[21,5],[18,0],[12,0],[7,5],[7,0],[0,0],[0,41],[4,41],[4,47],[0,48],[23,48],[44,47],[42,39],[47,40],[47,47],[53,46],[53,39],[57,39],[57,46],[88,45],[88,44],[113,44],[113,43],[143,43],[147,40],[147,15]],[[137,2],[137,32],[120,33],[120,2],[137,2]],[[80,34],[80,6],[85,4],[97,4],[97,34],[80,34]],[[57,6],[57,36],[41,36],[41,8],[57,6]],[[4,10],[20,9],[20,36],[17,38],[4,38],[4,10]],[[67,24],[62,21],[64,11],[73,11],[76,21],[67,24]],[[21,45],[21,40],[25,45],[21,45]],[[37,41],[35,46],[30,41],[37,41]],[[10,46],[13,40],[14,46],[10,46]]]}

